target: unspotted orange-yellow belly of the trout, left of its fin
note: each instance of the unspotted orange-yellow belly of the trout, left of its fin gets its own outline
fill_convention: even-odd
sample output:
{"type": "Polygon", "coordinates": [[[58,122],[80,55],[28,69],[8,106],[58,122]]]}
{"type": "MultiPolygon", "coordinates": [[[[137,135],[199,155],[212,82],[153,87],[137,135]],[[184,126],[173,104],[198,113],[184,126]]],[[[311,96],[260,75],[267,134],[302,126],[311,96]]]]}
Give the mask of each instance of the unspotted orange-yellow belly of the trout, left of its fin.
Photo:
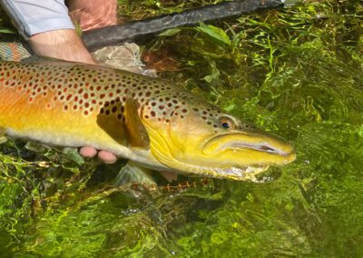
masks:
{"type": "MultiPolygon", "coordinates": [[[[0,127],[5,129],[6,134],[44,144],[74,147],[92,145],[115,154],[124,154],[124,135],[115,139],[107,134],[97,124],[97,110],[84,115],[82,109],[75,110],[73,106],[64,108],[64,104],[53,101],[52,92],[34,99],[31,97],[25,91],[0,86],[0,127]]],[[[122,124],[111,120],[110,126],[122,124]]]]}

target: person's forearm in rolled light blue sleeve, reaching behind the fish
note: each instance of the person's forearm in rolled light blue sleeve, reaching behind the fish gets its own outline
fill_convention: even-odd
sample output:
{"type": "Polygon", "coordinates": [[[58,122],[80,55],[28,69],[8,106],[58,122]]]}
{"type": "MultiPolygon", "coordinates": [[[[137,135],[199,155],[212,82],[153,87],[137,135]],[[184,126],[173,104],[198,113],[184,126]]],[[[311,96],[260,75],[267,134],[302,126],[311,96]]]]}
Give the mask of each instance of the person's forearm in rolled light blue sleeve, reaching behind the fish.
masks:
{"type": "Polygon", "coordinates": [[[93,63],[68,15],[64,0],[1,0],[36,55],[93,63]]]}

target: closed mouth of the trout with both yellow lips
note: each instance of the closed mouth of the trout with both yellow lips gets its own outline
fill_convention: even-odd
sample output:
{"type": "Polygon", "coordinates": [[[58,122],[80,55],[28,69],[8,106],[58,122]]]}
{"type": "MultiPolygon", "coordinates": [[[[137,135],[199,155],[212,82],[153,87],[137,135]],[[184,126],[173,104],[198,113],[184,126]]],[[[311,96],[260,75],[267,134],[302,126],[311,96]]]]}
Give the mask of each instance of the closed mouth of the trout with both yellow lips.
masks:
{"type": "Polygon", "coordinates": [[[296,154],[292,146],[278,136],[255,132],[231,132],[212,137],[202,152],[228,160],[236,167],[264,167],[289,164],[296,154]]]}

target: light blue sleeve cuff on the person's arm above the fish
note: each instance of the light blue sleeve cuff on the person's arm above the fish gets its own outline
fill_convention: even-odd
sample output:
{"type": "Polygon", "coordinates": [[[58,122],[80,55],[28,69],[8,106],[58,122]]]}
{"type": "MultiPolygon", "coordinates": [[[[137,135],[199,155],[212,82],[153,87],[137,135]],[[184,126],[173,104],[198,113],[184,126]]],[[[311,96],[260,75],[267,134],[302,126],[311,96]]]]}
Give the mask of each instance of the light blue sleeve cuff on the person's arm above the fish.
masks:
{"type": "Polygon", "coordinates": [[[74,29],[64,0],[0,1],[25,39],[47,31],[74,29]]]}

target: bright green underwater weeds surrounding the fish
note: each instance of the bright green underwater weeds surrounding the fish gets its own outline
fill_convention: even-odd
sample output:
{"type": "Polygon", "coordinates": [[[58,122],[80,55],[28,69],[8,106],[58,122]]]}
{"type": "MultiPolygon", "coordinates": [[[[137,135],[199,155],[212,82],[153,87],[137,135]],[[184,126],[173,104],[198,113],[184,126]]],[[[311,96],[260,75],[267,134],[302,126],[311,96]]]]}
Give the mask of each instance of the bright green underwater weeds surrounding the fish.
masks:
{"type": "MultiPolygon", "coordinates": [[[[119,3],[135,19],[216,1],[119,3]]],[[[271,168],[263,184],[180,177],[168,186],[156,175],[160,189],[150,190],[113,186],[123,161],[8,141],[1,256],[363,256],[361,4],[297,2],[144,46],[162,77],[289,139],[294,164],[271,168]]]]}

